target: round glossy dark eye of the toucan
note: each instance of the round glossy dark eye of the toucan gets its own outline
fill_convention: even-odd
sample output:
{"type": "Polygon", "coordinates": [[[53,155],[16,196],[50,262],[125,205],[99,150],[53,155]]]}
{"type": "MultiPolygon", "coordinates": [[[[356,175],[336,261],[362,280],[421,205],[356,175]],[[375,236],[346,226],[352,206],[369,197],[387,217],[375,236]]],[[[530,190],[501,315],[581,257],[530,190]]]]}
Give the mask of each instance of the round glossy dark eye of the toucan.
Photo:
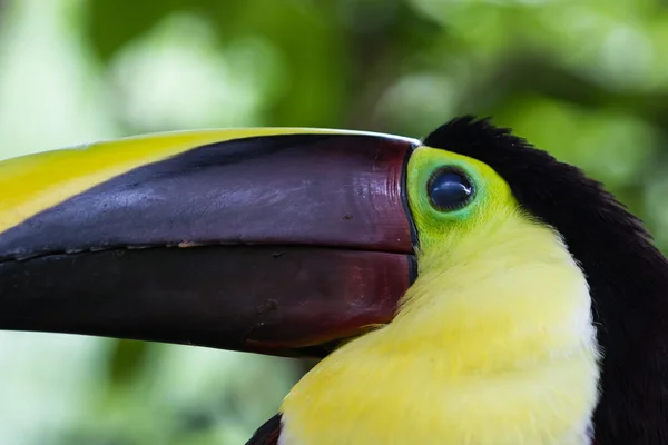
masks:
{"type": "Polygon", "coordinates": [[[461,170],[445,167],[432,175],[426,191],[435,209],[448,211],[469,204],[475,190],[471,180],[461,170]]]}

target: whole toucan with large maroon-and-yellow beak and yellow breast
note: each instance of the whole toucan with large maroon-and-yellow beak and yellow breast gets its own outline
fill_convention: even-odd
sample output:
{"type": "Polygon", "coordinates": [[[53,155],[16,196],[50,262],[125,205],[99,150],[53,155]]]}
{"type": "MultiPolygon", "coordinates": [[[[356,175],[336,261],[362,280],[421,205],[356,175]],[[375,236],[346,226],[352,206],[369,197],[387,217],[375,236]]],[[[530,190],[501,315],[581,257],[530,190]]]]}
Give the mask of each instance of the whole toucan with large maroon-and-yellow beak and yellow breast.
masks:
{"type": "Polygon", "coordinates": [[[668,444],[668,261],[471,116],[0,162],[0,329],[321,358],[248,444],[668,444]]]}

